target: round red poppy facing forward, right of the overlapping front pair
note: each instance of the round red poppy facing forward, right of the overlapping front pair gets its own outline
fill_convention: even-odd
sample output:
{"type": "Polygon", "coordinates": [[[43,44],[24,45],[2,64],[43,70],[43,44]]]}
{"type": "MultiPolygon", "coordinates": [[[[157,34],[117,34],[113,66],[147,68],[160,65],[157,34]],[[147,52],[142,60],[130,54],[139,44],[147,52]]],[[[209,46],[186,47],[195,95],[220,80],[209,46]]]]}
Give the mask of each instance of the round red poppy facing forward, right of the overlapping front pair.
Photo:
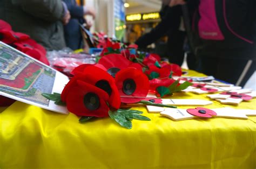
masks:
{"type": "Polygon", "coordinates": [[[149,79],[136,68],[122,69],[115,80],[123,103],[137,103],[149,92],[149,79]]]}

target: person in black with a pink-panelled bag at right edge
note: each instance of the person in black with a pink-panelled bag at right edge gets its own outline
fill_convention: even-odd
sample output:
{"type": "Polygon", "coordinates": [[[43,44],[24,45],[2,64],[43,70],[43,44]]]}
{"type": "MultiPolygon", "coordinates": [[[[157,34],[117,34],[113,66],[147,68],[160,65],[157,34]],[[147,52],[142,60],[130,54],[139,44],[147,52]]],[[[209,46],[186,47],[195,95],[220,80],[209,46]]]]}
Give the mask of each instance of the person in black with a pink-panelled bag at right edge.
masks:
{"type": "Polygon", "coordinates": [[[256,1],[189,0],[187,5],[198,35],[192,45],[200,72],[244,86],[256,68],[256,1]]]}

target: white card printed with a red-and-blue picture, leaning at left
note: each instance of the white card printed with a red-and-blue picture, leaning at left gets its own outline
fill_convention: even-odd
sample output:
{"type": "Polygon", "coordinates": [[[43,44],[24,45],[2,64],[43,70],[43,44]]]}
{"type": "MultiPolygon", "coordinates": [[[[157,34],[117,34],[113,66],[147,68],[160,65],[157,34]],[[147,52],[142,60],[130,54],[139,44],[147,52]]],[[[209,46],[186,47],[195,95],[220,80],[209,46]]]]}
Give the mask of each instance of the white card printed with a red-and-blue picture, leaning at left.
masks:
{"type": "Polygon", "coordinates": [[[0,41],[0,95],[68,114],[66,107],[56,105],[42,93],[62,93],[69,78],[0,41]]]}

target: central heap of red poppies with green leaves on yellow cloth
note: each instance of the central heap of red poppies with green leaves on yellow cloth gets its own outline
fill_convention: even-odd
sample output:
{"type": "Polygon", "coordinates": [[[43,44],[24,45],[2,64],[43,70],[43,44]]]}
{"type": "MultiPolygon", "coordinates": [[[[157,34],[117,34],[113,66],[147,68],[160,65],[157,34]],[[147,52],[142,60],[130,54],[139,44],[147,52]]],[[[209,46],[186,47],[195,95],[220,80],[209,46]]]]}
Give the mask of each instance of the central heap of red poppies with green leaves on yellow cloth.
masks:
{"type": "Polygon", "coordinates": [[[80,122],[110,116],[128,129],[131,128],[132,119],[150,119],[140,115],[141,111],[120,108],[124,104],[176,108],[154,103],[155,98],[147,95],[150,92],[159,96],[171,95],[192,85],[189,82],[180,84],[179,80],[172,79],[172,75],[181,75],[181,68],[161,62],[157,54],[130,54],[132,47],[136,45],[119,49],[104,48],[97,64],[84,64],[73,69],[73,77],[61,95],[44,96],[56,103],[66,104],[70,112],[82,116],[80,122]]]}

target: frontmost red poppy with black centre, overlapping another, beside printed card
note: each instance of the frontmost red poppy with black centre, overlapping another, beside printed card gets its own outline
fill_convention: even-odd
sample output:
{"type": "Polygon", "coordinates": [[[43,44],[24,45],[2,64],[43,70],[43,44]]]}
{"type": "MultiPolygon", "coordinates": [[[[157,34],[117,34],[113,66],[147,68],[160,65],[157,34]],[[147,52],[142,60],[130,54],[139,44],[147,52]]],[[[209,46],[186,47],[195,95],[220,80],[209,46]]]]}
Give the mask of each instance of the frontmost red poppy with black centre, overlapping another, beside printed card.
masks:
{"type": "Polygon", "coordinates": [[[77,116],[108,116],[109,107],[106,101],[109,95],[106,91],[97,88],[84,81],[70,81],[72,87],[63,90],[65,94],[65,102],[68,110],[77,116]]]}

